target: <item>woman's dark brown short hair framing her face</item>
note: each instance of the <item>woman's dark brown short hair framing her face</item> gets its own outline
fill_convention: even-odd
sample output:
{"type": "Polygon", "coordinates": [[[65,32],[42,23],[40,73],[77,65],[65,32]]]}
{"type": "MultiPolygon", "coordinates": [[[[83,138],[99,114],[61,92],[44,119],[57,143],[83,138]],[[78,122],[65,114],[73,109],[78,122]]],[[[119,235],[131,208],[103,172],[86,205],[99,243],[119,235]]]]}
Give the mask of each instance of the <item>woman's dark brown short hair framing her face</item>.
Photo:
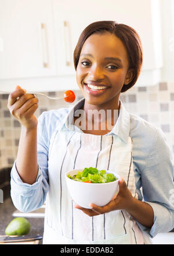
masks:
{"type": "Polygon", "coordinates": [[[77,69],[79,56],[86,39],[92,34],[104,34],[107,31],[111,34],[115,34],[115,36],[122,41],[128,54],[129,69],[134,69],[134,75],[131,82],[128,85],[124,85],[121,89],[121,92],[126,92],[126,90],[135,85],[143,63],[143,49],[139,34],[135,29],[126,24],[119,24],[110,20],[103,20],[89,24],[82,31],[74,50],[75,70],[77,69]]]}

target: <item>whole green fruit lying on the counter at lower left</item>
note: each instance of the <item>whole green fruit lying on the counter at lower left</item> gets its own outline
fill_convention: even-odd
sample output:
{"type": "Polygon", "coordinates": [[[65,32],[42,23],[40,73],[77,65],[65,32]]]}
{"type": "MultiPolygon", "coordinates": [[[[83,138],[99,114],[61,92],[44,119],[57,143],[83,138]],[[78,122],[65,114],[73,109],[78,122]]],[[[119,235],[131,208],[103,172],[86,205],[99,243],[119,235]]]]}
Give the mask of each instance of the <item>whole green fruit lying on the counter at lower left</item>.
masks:
{"type": "Polygon", "coordinates": [[[28,234],[29,231],[30,222],[26,218],[19,217],[9,223],[5,229],[5,234],[8,234],[8,236],[23,236],[28,234]]]}

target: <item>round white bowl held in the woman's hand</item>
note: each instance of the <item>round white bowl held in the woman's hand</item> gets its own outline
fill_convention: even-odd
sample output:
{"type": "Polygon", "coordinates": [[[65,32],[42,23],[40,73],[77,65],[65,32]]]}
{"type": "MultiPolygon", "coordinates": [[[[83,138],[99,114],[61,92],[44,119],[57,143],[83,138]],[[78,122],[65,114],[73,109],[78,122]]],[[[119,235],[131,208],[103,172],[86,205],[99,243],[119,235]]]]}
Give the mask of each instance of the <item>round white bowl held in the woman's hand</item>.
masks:
{"type": "MultiPolygon", "coordinates": [[[[118,193],[118,180],[119,175],[114,174],[118,180],[112,181],[110,183],[84,183],[75,180],[71,180],[68,178],[68,174],[70,176],[74,176],[78,171],[83,171],[84,169],[72,170],[68,171],[66,176],[66,183],[68,191],[70,192],[71,198],[75,201],[75,203],[81,207],[90,209],[89,204],[95,204],[98,206],[107,205],[108,202],[114,197],[115,194],[118,193]]],[[[106,170],[107,173],[112,173],[111,171],[106,170]]]]}

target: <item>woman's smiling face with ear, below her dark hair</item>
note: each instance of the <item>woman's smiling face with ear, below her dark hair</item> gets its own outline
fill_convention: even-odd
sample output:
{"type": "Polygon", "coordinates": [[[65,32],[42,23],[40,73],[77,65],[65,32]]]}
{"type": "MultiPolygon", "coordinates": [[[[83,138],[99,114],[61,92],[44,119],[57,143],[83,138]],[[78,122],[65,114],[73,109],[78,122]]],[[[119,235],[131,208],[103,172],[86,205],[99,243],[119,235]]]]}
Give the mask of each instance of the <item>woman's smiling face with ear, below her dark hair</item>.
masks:
{"type": "Polygon", "coordinates": [[[108,32],[92,34],[85,41],[76,79],[88,104],[102,106],[119,100],[122,86],[131,82],[133,71],[122,41],[108,32]]]}

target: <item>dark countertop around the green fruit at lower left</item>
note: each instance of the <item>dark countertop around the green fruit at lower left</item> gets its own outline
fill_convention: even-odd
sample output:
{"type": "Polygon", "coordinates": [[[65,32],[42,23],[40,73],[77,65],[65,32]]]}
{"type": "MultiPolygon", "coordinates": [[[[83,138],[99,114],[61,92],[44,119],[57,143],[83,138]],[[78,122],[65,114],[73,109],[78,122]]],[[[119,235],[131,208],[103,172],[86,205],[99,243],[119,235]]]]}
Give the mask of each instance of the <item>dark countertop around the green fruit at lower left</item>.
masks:
{"type": "MultiPolygon", "coordinates": [[[[0,204],[0,235],[5,235],[6,226],[15,217],[12,216],[13,212],[16,211],[13,205],[12,199],[7,198],[2,204],[0,204]]],[[[36,235],[44,234],[44,218],[26,218],[31,225],[30,232],[28,234],[36,235]]],[[[39,244],[42,244],[42,240],[39,240],[39,244]]]]}

